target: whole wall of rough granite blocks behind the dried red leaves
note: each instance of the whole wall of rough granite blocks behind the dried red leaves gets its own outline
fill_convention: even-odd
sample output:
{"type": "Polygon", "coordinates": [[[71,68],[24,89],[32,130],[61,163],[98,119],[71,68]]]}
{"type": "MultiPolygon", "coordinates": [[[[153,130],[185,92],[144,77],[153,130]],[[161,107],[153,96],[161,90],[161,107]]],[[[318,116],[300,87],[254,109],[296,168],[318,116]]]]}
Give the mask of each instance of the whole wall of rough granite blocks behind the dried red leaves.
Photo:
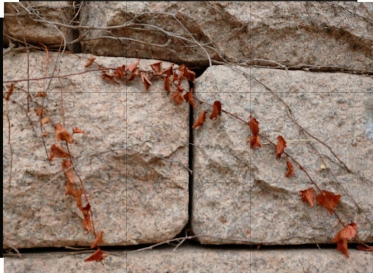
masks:
{"type": "MultiPolygon", "coordinates": [[[[299,191],[312,186],[308,174],[321,189],[342,196],[335,209],[340,220],[357,224],[350,242],[373,242],[372,15],[371,3],[344,2],[5,4],[3,247],[87,246],[94,240],[74,198],[65,196],[61,160],[48,160],[56,123],[85,132],[74,134],[69,147],[95,230],[104,231],[100,246],[198,235],[201,255],[194,257],[199,250],[188,246],[179,255],[203,259],[209,251],[202,245],[248,245],[251,261],[253,245],[330,244],[342,226],[325,208],[301,201],[299,191]],[[91,55],[95,64],[84,67],[91,55]],[[100,68],[128,67],[137,58],[141,71],[158,60],[163,68],[175,63],[176,70],[186,64],[197,78],[180,88],[193,87],[205,103],[175,103],[156,77],[148,92],[140,76],[118,84],[102,78],[100,68]],[[214,101],[228,113],[192,129],[214,101]],[[40,123],[34,109],[41,106],[51,122],[40,123]],[[295,164],[295,175],[285,177],[289,158],[276,159],[265,139],[262,148],[251,149],[250,128],[232,115],[243,121],[253,115],[274,142],[282,135],[286,151],[307,173],[295,164]]],[[[230,257],[236,250],[221,251],[230,257]]],[[[115,269],[131,264],[129,272],[158,266],[182,271],[173,262],[177,253],[155,252],[155,259],[169,262],[148,269],[123,253],[123,259],[104,262],[115,269]]],[[[286,259],[296,266],[313,255],[301,253],[286,259]]],[[[355,263],[361,261],[359,272],[368,270],[371,252],[352,253],[355,263]]],[[[283,259],[276,251],[271,255],[277,258],[268,271],[283,259]]],[[[336,250],[325,255],[345,262],[336,250]]],[[[60,268],[69,262],[57,261],[60,268]]],[[[39,262],[6,257],[5,264],[23,271],[39,262]]],[[[188,270],[212,270],[209,262],[188,270]]],[[[310,272],[324,268],[309,262],[304,268],[310,272]]],[[[253,264],[250,270],[260,270],[253,264]]]]}

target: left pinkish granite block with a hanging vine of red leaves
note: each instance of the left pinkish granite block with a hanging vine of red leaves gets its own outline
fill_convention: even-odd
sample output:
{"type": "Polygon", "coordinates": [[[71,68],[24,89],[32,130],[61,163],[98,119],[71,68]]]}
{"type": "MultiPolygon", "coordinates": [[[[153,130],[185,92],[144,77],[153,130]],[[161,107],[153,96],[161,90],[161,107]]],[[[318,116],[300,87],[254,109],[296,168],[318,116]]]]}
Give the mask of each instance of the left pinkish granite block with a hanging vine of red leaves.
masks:
{"type": "MultiPolygon", "coordinates": [[[[94,65],[84,68],[85,54],[65,54],[59,60],[57,53],[49,54],[45,72],[45,53],[30,53],[30,78],[52,75],[56,62],[54,73],[60,76],[97,69],[94,65]]],[[[106,67],[134,61],[96,58],[106,67]]],[[[149,70],[154,62],[141,60],[139,66],[149,70]]],[[[26,54],[7,55],[4,80],[21,78],[27,78],[26,54]]],[[[55,158],[49,163],[47,159],[39,117],[34,113],[42,102],[35,95],[46,89],[44,107],[51,119],[44,125],[50,133],[45,138],[48,154],[55,143],[53,125],[63,123],[60,92],[65,127],[69,132],[75,126],[87,132],[74,134],[75,142],[69,149],[84,181],[95,228],[104,231],[103,244],[154,243],[178,234],[188,221],[188,107],[172,103],[162,81],[153,80],[149,92],[144,92],[139,78],[116,85],[94,71],[30,81],[29,118],[25,111],[27,81],[15,83],[11,101],[3,99],[4,246],[89,245],[93,241],[93,235],[83,228],[75,200],[65,196],[62,160],[55,158]],[[7,115],[13,150],[10,184],[7,115]]],[[[60,145],[65,147],[62,142],[60,145]]]]}

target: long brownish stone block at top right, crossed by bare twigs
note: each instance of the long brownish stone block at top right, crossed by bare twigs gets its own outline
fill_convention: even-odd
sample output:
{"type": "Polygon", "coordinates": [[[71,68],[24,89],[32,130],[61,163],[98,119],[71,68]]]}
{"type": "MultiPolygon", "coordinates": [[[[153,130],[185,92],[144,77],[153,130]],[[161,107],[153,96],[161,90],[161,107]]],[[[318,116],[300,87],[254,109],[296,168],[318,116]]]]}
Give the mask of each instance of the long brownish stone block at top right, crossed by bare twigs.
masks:
{"type": "Polygon", "coordinates": [[[372,13],[372,3],[91,2],[81,21],[101,29],[80,35],[98,55],[206,65],[203,45],[220,61],[372,71],[372,13]]]}

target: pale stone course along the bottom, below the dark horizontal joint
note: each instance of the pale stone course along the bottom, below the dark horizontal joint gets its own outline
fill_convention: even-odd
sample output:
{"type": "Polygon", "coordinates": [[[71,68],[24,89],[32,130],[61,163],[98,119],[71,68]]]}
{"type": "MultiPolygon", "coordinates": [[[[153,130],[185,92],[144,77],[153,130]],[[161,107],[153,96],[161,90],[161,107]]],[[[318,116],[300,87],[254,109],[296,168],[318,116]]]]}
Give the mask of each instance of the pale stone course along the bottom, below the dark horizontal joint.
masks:
{"type": "Polygon", "coordinates": [[[349,249],[346,259],[331,249],[248,250],[182,246],[139,253],[112,251],[103,262],[84,262],[89,254],[26,254],[6,257],[5,272],[371,272],[373,253],[349,249]],[[127,254],[127,255],[126,255],[127,254]],[[127,259],[126,259],[127,257],[127,259]]]}

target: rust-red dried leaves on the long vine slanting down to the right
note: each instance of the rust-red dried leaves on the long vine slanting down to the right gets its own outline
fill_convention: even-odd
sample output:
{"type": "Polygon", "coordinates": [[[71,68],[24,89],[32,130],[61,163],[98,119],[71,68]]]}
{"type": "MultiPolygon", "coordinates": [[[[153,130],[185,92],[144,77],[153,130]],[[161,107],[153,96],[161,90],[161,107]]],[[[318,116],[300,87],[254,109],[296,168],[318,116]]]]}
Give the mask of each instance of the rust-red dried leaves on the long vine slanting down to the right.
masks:
{"type": "MultiPolygon", "coordinates": [[[[93,63],[94,59],[90,59],[90,61],[86,64],[86,67],[91,65],[93,63]]],[[[186,92],[183,95],[184,89],[181,87],[181,81],[183,79],[187,79],[189,81],[194,81],[195,74],[193,71],[189,70],[185,65],[180,65],[177,69],[179,71],[179,74],[176,73],[175,69],[173,69],[173,64],[171,64],[166,69],[162,69],[162,62],[156,62],[151,64],[152,70],[151,72],[144,72],[141,71],[138,68],[140,60],[138,60],[135,63],[129,64],[127,67],[125,65],[116,67],[112,74],[109,74],[105,68],[102,69],[102,76],[105,80],[109,80],[111,82],[114,82],[118,84],[118,82],[115,80],[123,80],[125,82],[128,82],[130,80],[133,80],[136,76],[141,77],[142,82],[144,83],[144,87],[146,90],[149,90],[150,86],[152,85],[151,79],[153,77],[158,77],[164,80],[164,88],[167,92],[171,93],[172,100],[180,105],[184,101],[188,102],[193,108],[195,108],[194,101],[197,100],[201,104],[200,100],[198,100],[193,95],[193,89],[190,89],[189,92],[186,92]],[[172,78],[171,78],[172,77],[172,78]],[[175,85],[176,88],[171,91],[171,84],[175,85]]],[[[218,116],[221,115],[222,108],[221,108],[221,102],[215,101],[212,104],[212,111],[210,113],[210,119],[217,119],[218,116]]],[[[230,114],[227,111],[223,111],[228,114],[230,114]]],[[[195,129],[197,127],[202,127],[206,120],[207,112],[203,111],[198,116],[197,120],[193,124],[192,128],[195,129]]],[[[233,114],[230,114],[231,116],[235,117],[233,114]]],[[[250,137],[250,147],[251,148],[261,148],[261,138],[259,133],[259,122],[253,117],[250,116],[250,120],[247,122],[247,125],[250,127],[252,135],[250,137]]],[[[272,143],[272,142],[271,142],[272,143]]],[[[272,143],[274,144],[274,143],[272,143]]],[[[284,149],[286,146],[286,141],[283,136],[279,135],[277,137],[277,144],[275,145],[275,154],[276,159],[280,159],[281,155],[284,152],[284,149]]],[[[288,154],[285,153],[287,156],[288,154]]],[[[300,169],[305,171],[304,168],[297,162],[300,169]]],[[[294,175],[294,166],[293,163],[290,160],[286,161],[287,170],[285,172],[286,177],[291,177],[294,175]]],[[[306,172],[306,171],[305,171],[306,172]]],[[[334,193],[331,193],[329,191],[322,191],[319,189],[319,187],[313,182],[311,179],[311,183],[316,186],[316,188],[319,190],[319,194],[316,197],[317,204],[326,208],[330,214],[335,214],[334,208],[338,205],[338,202],[341,198],[341,195],[335,195],[334,193]]],[[[301,198],[304,202],[307,202],[311,207],[314,206],[314,195],[315,190],[313,188],[309,188],[304,191],[300,191],[301,198]]],[[[338,217],[338,216],[337,216],[338,217]]],[[[345,225],[342,223],[342,221],[339,219],[339,222],[343,225],[343,228],[337,233],[337,235],[333,238],[333,241],[337,243],[337,250],[343,252],[348,257],[348,249],[347,249],[347,240],[352,239],[356,236],[357,233],[357,226],[355,223],[350,223],[348,225],[345,225]]],[[[361,246],[361,249],[364,249],[365,251],[371,251],[367,249],[366,246],[361,246]]]]}

